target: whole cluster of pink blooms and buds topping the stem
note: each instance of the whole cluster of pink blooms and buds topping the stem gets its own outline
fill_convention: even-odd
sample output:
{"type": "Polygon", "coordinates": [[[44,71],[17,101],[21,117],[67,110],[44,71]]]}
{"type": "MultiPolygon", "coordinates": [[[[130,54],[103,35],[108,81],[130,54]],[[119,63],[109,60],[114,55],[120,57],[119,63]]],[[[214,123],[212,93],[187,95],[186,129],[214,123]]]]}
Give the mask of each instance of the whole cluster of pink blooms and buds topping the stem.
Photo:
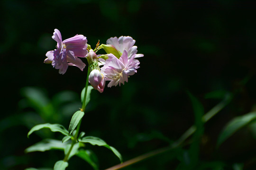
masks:
{"type": "Polygon", "coordinates": [[[46,53],[45,63],[52,63],[54,68],[59,69],[60,74],[64,74],[68,66],[76,66],[83,70],[85,64],[78,57],[86,58],[90,68],[88,81],[101,93],[105,81],[110,81],[108,87],[128,82],[128,77],[137,73],[139,68],[139,61],[136,58],[144,56],[137,54],[135,40],[130,36],[112,37],[107,40],[107,44],[99,46],[98,43],[94,50],[87,44],[83,35],[75,35],[62,41],[59,30],[55,29],[52,38],[57,42],[57,49],[46,53]],[[107,54],[97,55],[95,51],[100,49],[107,54]]]}

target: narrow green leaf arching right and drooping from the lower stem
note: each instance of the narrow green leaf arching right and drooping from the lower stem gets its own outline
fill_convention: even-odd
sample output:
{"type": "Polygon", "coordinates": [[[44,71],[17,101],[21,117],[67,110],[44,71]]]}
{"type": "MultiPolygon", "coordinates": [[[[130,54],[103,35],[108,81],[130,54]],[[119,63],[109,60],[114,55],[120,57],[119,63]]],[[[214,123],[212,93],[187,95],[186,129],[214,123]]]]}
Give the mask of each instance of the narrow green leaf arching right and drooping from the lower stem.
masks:
{"type": "Polygon", "coordinates": [[[122,162],[122,156],[121,154],[112,146],[108,145],[105,141],[103,141],[101,138],[94,137],[94,136],[86,136],[83,137],[80,142],[83,143],[90,143],[92,145],[98,145],[98,146],[105,146],[106,148],[110,149],[115,155],[119,158],[119,160],[122,162]]]}

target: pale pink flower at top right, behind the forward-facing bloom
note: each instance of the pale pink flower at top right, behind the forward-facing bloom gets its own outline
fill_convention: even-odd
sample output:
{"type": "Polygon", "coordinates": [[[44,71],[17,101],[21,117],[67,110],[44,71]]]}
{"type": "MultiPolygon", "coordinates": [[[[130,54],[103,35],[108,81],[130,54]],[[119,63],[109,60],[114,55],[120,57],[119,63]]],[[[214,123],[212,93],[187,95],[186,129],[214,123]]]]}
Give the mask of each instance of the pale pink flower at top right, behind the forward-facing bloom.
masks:
{"type": "MultiPolygon", "coordinates": [[[[113,48],[120,51],[120,53],[123,53],[126,50],[128,53],[128,59],[130,59],[134,54],[137,53],[137,46],[133,46],[135,44],[135,40],[132,39],[132,37],[130,36],[120,36],[119,38],[111,37],[107,40],[107,44],[112,45],[113,48]]],[[[143,56],[143,54],[136,54],[134,58],[143,56]]]]}

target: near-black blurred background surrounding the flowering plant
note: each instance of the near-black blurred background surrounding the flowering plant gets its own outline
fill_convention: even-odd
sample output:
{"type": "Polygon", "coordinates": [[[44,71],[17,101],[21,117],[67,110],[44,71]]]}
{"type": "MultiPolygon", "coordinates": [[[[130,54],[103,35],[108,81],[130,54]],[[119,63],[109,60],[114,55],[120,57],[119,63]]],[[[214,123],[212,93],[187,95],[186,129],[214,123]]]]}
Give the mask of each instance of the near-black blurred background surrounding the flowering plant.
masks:
{"type": "MultiPolygon", "coordinates": [[[[106,86],[104,93],[92,92],[81,127],[87,135],[101,137],[126,161],[168,146],[193,125],[186,91],[199,99],[206,112],[220,100],[206,99],[205,94],[216,90],[233,93],[241,88],[233,101],[205,124],[198,166],[223,163],[225,169],[233,169],[235,163],[242,163],[244,169],[256,168],[256,140],[251,129],[241,129],[216,148],[225,124],[256,104],[254,1],[1,0],[0,14],[1,170],[53,167],[64,157],[60,151],[24,153],[42,138],[33,134],[27,139],[32,125],[22,122],[22,115],[28,111],[35,115],[38,110],[20,107],[22,89],[27,86],[42,89],[50,99],[70,90],[79,100],[86,69],[69,67],[59,75],[43,63],[46,52],[55,49],[51,38],[55,28],[63,40],[83,34],[93,48],[98,40],[106,43],[110,37],[131,36],[138,53],[144,54],[137,74],[128,83],[106,86]],[[240,87],[248,74],[250,80],[240,87]]],[[[61,114],[40,121],[68,127],[73,112],[64,118],[61,114]]],[[[59,134],[55,137],[61,139],[59,134]]],[[[88,147],[97,154],[100,169],[119,163],[109,150],[88,147]]],[[[179,154],[165,153],[124,170],[174,170],[179,162],[179,154]]],[[[91,167],[73,157],[67,170],[86,168],[91,167]]]]}

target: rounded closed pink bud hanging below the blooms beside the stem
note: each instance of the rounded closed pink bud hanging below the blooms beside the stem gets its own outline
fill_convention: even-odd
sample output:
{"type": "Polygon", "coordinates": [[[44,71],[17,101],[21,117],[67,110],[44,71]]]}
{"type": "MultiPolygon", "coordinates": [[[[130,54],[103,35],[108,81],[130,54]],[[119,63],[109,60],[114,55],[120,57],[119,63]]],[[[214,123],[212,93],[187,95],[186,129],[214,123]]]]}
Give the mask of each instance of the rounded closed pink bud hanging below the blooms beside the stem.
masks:
{"type": "Polygon", "coordinates": [[[88,80],[94,89],[98,90],[100,93],[103,92],[105,87],[105,76],[100,72],[100,70],[93,69],[88,80]]]}

